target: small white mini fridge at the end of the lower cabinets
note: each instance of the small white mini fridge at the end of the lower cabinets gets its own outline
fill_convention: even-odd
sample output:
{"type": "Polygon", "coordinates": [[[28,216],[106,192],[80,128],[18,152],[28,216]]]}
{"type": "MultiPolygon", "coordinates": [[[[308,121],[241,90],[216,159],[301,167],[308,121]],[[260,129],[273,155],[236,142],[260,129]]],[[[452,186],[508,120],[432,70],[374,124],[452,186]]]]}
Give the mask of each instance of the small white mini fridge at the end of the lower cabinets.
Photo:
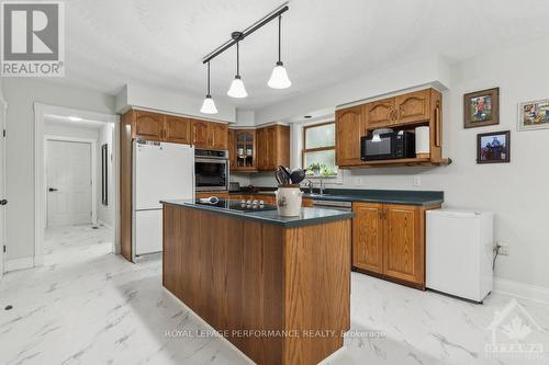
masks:
{"type": "Polygon", "coordinates": [[[492,213],[427,210],[426,287],[482,303],[493,287],[492,213]]]}

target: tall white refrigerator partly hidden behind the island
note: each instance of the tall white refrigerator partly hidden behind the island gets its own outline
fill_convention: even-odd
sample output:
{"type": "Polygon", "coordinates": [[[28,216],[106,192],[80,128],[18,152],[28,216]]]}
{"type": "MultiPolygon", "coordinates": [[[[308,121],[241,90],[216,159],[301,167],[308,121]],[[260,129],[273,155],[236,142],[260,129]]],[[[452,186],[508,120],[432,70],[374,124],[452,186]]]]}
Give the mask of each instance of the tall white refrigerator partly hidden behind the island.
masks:
{"type": "Polygon", "coordinates": [[[161,199],[194,198],[194,148],[133,142],[132,261],[163,250],[161,199]]]}

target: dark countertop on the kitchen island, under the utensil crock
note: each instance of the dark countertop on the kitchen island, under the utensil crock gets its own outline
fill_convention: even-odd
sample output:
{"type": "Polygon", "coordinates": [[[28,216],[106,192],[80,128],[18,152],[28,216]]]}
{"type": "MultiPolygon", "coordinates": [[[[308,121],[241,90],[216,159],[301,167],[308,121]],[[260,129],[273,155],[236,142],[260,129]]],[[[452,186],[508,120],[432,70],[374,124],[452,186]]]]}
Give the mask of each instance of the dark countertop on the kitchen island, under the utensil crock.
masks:
{"type": "Polygon", "coordinates": [[[201,209],[223,214],[237,219],[256,220],[264,224],[282,226],[285,228],[302,227],[310,225],[318,225],[335,220],[350,219],[354,217],[352,212],[341,212],[324,208],[301,208],[299,217],[281,217],[277,210],[250,212],[244,213],[239,210],[228,210],[215,206],[197,204],[194,201],[160,201],[161,204],[177,205],[180,207],[201,209]]]}

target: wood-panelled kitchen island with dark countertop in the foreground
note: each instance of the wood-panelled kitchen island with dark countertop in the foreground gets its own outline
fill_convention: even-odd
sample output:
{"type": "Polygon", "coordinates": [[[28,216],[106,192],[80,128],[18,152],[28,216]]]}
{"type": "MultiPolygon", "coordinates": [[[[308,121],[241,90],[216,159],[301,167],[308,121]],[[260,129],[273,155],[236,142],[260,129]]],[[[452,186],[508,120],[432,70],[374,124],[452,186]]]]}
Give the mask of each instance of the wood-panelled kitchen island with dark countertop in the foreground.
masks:
{"type": "Polygon", "coordinates": [[[343,346],[352,213],[163,204],[163,285],[250,360],[316,364],[343,346]]]}

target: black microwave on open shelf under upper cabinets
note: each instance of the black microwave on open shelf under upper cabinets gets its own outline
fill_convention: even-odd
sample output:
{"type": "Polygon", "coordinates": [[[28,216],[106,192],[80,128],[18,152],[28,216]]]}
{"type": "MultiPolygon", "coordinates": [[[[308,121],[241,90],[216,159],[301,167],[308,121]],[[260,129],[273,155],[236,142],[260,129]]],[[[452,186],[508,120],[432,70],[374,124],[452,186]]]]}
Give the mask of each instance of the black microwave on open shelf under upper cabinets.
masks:
{"type": "Polygon", "coordinates": [[[369,134],[360,138],[360,159],[363,161],[414,157],[415,134],[411,130],[369,134]]]}

